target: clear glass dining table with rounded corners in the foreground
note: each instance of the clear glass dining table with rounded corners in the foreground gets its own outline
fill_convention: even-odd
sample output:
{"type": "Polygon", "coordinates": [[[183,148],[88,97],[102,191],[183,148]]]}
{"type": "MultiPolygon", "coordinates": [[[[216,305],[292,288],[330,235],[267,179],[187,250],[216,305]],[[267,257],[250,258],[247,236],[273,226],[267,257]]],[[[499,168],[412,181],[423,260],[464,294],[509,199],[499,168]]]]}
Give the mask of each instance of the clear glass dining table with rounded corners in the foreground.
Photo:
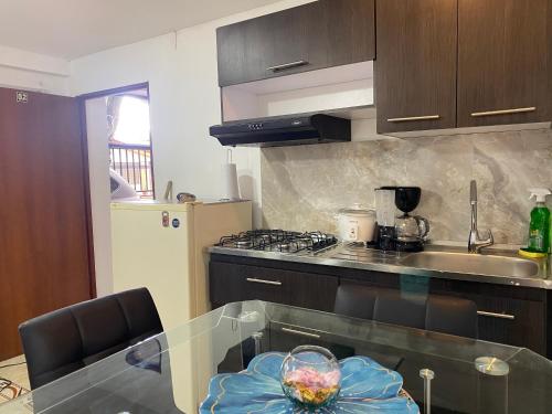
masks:
{"type": "Polygon", "coordinates": [[[373,361],[402,379],[408,399],[402,411],[372,395],[355,401],[375,405],[318,413],[552,413],[552,362],[528,349],[255,300],[229,304],[91,364],[0,405],[0,414],[300,413],[280,410],[282,401],[272,405],[267,390],[274,399],[283,394],[258,376],[267,370],[259,361],[306,344],[342,361],[373,361]],[[232,382],[240,373],[243,386],[232,382]],[[231,393],[243,410],[235,399],[229,405],[231,393]],[[247,399],[262,408],[246,408],[247,399]]]}

